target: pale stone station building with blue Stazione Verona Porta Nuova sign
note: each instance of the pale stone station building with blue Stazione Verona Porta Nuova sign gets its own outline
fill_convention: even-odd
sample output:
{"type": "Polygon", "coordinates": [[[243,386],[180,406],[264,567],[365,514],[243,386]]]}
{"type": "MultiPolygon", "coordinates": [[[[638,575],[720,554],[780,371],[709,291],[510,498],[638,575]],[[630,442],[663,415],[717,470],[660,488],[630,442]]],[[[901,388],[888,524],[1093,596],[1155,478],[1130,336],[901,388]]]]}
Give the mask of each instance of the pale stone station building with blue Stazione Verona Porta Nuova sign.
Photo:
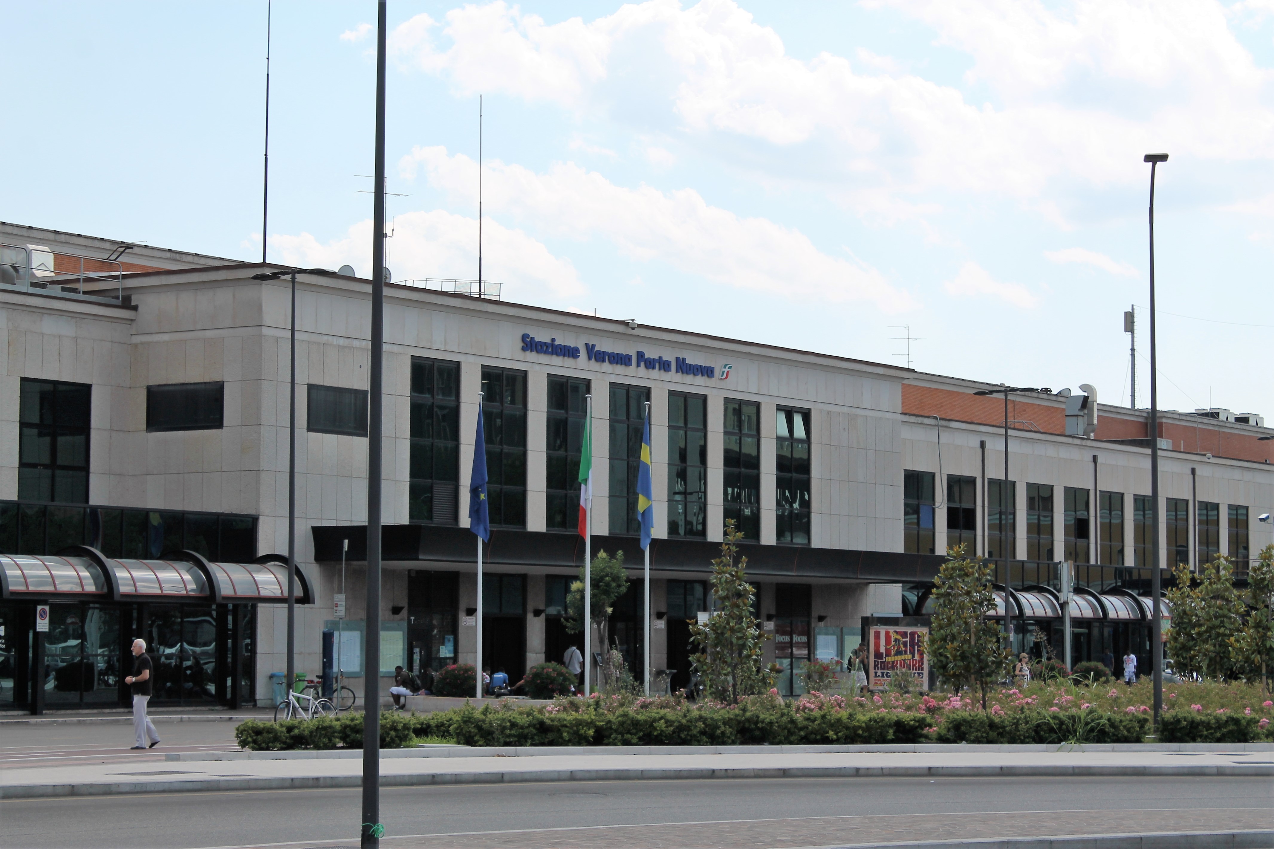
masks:
{"type": "MultiPolygon", "coordinates": [[[[290,283],[254,275],[273,270],[0,223],[0,710],[122,701],[135,636],[158,660],[157,702],[271,704],[269,676],[285,667],[290,283]]],[[[478,627],[483,665],[513,681],[582,646],[562,614],[583,558],[590,409],[592,551],[631,570],[609,634],[640,676],[648,404],[651,654],[670,686],[688,677],[688,621],[711,606],[726,520],[744,533],[785,693],[805,660],[847,657],[864,617],[924,616],[952,546],[1008,557],[999,599],[1020,650],[1063,654],[1059,563],[1071,561],[1074,659],[1131,648],[1148,669],[1152,534],[1166,567],[1219,553],[1240,574],[1274,542],[1256,521],[1274,506],[1274,441],[1260,439],[1274,431],[1255,414],[1161,412],[1152,435],[1145,410],[1092,388],[1010,394],[1005,482],[1004,399],[976,394],[995,384],[493,294],[386,287],[386,676],[475,662],[478,627]],[[482,612],[465,492],[479,396],[482,612]]],[[[297,669],[312,674],[326,630],[347,676],[368,663],[369,302],[366,279],[298,278],[297,669]]]]}

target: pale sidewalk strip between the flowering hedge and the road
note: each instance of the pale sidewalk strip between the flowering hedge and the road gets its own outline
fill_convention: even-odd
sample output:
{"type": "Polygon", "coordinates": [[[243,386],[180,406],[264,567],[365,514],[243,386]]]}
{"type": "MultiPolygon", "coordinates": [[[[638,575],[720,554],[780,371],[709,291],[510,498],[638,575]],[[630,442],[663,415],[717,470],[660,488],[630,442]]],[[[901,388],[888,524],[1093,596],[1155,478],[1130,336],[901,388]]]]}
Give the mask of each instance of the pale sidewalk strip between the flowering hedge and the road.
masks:
{"type": "MultiPolygon", "coordinates": [[[[674,747],[395,750],[385,752],[381,760],[381,783],[383,787],[410,787],[703,778],[1274,778],[1274,746],[1270,744],[1181,747],[1189,751],[1162,751],[1164,747],[1148,751],[1145,746],[1087,747],[1083,751],[1046,746],[916,746],[893,747],[892,751],[891,747],[828,748],[833,747],[776,747],[773,751],[768,747],[729,747],[712,750],[716,753],[674,747]]],[[[0,798],[358,787],[362,781],[359,755],[155,751],[113,762],[48,766],[25,762],[0,769],[0,798]],[[213,757],[217,760],[210,760],[213,757]]]]}

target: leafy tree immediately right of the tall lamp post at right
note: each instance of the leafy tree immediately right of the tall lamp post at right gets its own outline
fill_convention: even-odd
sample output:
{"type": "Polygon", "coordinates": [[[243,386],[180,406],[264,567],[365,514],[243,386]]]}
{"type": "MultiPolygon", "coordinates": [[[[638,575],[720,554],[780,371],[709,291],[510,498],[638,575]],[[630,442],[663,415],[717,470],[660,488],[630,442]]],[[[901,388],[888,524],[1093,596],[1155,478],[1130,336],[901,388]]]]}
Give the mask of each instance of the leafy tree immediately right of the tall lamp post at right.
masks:
{"type": "Polygon", "coordinates": [[[1172,606],[1168,628],[1172,668],[1217,681],[1232,678],[1236,668],[1231,639],[1242,627],[1246,608],[1235,588],[1229,560],[1218,555],[1201,575],[1180,563],[1173,577],[1176,586],[1164,593],[1172,606]]]}

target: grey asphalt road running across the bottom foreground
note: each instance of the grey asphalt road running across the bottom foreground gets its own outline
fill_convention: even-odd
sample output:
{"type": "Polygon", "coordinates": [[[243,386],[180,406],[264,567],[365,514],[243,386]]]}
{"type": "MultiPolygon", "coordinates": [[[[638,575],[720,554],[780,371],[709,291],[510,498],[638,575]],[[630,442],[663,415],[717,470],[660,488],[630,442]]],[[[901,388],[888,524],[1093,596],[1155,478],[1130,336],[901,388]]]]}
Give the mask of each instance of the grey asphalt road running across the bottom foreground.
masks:
{"type": "MultiPolygon", "coordinates": [[[[358,789],[14,799],[0,802],[0,844],[357,845],[359,806],[358,789]]],[[[1274,827],[1271,809],[1268,778],[599,781],[381,795],[385,846],[810,846],[1274,827]]]]}

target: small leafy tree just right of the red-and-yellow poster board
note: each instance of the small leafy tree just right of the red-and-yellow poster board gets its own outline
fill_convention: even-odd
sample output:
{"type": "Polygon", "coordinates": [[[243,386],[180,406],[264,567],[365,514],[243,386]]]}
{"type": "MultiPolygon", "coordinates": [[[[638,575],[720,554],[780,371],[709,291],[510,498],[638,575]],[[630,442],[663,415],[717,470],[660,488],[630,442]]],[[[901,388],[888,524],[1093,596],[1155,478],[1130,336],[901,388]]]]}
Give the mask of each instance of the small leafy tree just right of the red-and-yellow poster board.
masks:
{"type": "Polygon", "coordinates": [[[987,618],[995,611],[991,586],[994,567],[953,548],[934,581],[934,614],[929,622],[929,663],[957,693],[977,688],[986,710],[986,691],[1003,678],[1013,651],[1003,644],[1000,623],[987,618]]]}

